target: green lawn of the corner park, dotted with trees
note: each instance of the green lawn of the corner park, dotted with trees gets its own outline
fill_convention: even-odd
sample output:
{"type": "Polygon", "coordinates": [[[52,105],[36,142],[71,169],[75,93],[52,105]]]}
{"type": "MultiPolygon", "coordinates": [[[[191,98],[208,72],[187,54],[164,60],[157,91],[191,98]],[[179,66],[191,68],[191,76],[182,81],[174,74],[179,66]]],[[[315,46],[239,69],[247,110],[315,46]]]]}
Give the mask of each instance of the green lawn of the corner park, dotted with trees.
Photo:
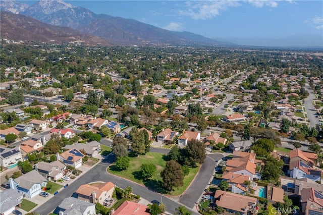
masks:
{"type": "MultiPolygon", "coordinates": [[[[163,171],[166,166],[167,155],[148,152],[146,155],[140,155],[139,157],[129,158],[131,165],[126,170],[120,170],[116,167],[116,165],[112,165],[110,166],[110,168],[107,169],[107,172],[129,179],[157,192],[167,193],[167,191],[163,187],[163,180],[160,177],[161,171],[163,171]],[[140,167],[142,164],[154,164],[156,166],[156,172],[151,178],[142,179],[140,177],[140,167]]],[[[184,185],[178,188],[174,188],[173,191],[169,193],[170,195],[176,196],[182,194],[194,179],[199,168],[189,168],[189,170],[189,174],[184,178],[184,185]]]]}

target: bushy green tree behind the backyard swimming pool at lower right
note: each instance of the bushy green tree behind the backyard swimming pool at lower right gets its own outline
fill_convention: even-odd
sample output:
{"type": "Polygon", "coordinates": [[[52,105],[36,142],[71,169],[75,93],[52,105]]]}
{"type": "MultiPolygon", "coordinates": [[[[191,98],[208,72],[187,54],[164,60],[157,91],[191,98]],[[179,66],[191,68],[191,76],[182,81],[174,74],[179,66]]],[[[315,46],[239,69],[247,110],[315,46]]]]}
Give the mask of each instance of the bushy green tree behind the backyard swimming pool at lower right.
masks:
{"type": "Polygon", "coordinates": [[[264,180],[277,182],[279,176],[283,174],[283,165],[283,160],[268,156],[263,167],[262,178],[264,180]]]}

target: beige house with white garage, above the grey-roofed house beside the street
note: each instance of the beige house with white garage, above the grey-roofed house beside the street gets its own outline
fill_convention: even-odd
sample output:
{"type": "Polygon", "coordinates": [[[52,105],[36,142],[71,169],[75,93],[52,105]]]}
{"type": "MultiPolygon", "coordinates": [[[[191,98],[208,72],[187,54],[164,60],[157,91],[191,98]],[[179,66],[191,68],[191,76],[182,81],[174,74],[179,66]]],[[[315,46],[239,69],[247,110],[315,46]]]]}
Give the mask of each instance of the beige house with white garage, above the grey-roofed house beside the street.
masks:
{"type": "Polygon", "coordinates": [[[51,180],[59,180],[64,176],[66,166],[62,162],[55,160],[50,163],[38,162],[34,168],[45,178],[49,177],[51,180]]]}

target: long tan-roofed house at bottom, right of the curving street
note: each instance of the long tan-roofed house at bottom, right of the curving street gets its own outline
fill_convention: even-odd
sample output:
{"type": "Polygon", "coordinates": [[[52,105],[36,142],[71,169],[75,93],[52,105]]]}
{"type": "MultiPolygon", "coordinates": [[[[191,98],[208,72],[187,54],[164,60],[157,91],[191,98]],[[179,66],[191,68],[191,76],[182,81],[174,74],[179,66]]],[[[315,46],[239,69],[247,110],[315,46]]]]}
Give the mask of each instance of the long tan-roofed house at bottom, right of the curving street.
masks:
{"type": "Polygon", "coordinates": [[[257,198],[217,190],[214,194],[216,205],[227,209],[228,212],[241,215],[257,214],[257,198]]]}

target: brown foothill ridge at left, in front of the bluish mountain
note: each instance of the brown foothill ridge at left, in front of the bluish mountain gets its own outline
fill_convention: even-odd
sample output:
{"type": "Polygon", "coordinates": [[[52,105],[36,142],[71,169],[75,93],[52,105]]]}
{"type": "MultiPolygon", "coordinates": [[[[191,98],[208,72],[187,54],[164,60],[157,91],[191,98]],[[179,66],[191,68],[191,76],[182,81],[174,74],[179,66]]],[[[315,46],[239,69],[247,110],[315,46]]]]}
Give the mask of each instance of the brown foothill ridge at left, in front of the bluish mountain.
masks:
{"type": "Polygon", "coordinates": [[[97,36],[87,35],[69,27],[49,25],[20,14],[1,12],[0,18],[2,39],[60,44],[80,42],[86,45],[109,45],[97,36]]]}

